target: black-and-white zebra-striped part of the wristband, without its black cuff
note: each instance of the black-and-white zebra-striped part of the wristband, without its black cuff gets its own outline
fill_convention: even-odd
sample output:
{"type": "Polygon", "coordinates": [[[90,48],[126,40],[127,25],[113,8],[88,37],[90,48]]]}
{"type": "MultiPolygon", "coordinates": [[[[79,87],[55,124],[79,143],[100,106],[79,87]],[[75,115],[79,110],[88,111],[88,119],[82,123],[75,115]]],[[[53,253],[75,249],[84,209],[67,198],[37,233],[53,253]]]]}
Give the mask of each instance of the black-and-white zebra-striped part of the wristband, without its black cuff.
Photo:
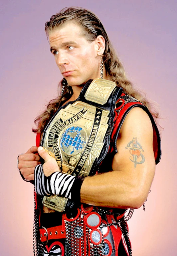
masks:
{"type": "Polygon", "coordinates": [[[58,195],[71,199],[71,188],[76,176],[54,172],[45,176],[43,165],[39,164],[34,170],[34,182],[36,194],[41,196],[58,195]]]}

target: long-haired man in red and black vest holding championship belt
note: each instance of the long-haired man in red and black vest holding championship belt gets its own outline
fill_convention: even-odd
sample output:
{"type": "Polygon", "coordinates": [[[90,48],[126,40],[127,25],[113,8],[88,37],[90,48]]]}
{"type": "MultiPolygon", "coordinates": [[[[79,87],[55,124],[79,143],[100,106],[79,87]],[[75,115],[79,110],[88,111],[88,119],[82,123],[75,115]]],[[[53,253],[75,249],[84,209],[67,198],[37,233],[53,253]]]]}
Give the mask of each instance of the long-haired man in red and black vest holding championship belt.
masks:
{"type": "Polygon", "coordinates": [[[62,93],[35,120],[37,146],[18,157],[35,185],[37,255],[131,255],[124,213],[148,196],[161,156],[158,114],[93,13],[65,8],[45,31],[62,93]]]}

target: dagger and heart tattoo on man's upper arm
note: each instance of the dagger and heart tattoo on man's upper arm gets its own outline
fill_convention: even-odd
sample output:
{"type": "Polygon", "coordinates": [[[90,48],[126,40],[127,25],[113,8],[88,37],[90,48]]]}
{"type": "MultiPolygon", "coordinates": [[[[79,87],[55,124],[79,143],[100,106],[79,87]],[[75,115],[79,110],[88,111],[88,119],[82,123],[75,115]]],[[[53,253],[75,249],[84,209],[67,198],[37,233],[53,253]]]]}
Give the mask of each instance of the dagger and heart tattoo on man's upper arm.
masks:
{"type": "Polygon", "coordinates": [[[131,140],[128,144],[126,149],[130,149],[129,152],[131,154],[130,161],[134,163],[134,167],[136,168],[137,164],[142,164],[145,161],[145,158],[142,154],[144,150],[142,149],[142,146],[139,144],[137,137],[133,137],[133,140],[131,140]]]}

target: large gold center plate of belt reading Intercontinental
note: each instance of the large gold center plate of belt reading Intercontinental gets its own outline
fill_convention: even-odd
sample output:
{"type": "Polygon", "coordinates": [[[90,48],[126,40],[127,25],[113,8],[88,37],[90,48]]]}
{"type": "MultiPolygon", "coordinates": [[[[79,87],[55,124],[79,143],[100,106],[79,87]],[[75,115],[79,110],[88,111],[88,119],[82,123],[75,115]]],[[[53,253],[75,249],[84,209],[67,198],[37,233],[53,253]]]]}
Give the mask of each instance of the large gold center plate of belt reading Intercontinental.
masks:
{"type": "Polygon", "coordinates": [[[108,110],[76,101],[55,116],[42,146],[56,158],[62,173],[89,175],[103,147],[108,115],[108,110]]]}

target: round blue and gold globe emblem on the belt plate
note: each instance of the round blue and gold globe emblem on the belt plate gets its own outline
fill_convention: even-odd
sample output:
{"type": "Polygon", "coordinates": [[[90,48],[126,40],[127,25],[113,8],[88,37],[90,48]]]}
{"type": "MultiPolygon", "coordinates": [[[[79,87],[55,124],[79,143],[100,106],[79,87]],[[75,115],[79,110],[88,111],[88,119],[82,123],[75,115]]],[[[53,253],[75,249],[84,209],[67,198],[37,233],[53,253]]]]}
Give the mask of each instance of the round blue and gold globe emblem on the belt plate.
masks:
{"type": "Polygon", "coordinates": [[[60,147],[65,154],[75,156],[84,149],[86,140],[85,130],[79,126],[72,126],[61,135],[60,147]]]}

